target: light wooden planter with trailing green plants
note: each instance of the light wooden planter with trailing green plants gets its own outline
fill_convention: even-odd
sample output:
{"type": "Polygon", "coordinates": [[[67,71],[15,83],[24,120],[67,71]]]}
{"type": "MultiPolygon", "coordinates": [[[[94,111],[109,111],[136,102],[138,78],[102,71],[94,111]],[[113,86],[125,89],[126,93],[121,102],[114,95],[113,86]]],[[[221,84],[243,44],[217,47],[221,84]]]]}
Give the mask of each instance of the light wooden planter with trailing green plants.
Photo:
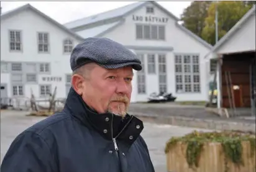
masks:
{"type": "Polygon", "coordinates": [[[184,137],[170,138],[165,153],[168,170],[176,172],[199,171],[201,168],[208,172],[244,168],[250,172],[255,168],[255,135],[234,131],[194,131],[184,137]]]}

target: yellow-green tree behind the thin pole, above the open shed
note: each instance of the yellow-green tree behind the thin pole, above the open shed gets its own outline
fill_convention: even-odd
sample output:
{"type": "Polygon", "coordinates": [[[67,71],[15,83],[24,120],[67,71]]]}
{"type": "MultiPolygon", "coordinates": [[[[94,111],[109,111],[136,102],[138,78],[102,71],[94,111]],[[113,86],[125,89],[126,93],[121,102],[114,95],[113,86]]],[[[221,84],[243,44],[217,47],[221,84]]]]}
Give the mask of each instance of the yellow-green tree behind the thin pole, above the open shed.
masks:
{"type": "Polygon", "coordinates": [[[215,12],[218,11],[218,40],[222,38],[241,18],[249,11],[252,4],[244,1],[217,1],[211,3],[208,9],[208,17],[204,21],[204,29],[201,37],[211,45],[215,40],[215,12]]]}

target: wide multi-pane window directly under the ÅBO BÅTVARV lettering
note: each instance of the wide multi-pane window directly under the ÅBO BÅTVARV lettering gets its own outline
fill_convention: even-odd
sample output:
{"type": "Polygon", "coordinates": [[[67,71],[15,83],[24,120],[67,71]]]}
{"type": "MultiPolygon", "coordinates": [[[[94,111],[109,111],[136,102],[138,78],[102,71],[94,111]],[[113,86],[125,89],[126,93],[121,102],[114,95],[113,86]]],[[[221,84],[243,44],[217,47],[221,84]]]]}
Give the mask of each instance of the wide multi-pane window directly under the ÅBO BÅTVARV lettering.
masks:
{"type": "Polygon", "coordinates": [[[165,26],[137,24],[136,38],[144,40],[165,40],[165,26]]]}

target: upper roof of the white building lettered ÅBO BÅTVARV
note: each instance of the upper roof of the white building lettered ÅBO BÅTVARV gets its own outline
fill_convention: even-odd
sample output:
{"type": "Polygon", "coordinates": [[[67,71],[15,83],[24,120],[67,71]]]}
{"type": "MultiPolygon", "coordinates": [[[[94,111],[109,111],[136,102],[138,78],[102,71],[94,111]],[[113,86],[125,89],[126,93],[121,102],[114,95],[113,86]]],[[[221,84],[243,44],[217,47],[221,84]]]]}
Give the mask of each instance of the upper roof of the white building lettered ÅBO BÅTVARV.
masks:
{"type": "Polygon", "coordinates": [[[145,6],[145,4],[148,4],[150,2],[153,5],[159,7],[162,11],[167,12],[167,14],[170,17],[172,17],[173,19],[179,20],[178,17],[171,14],[171,12],[167,11],[167,9],[160,6],[160,4],[158,4],[155,1],[139,1],[139,2],[134,2],[132,4],[124,6],[124,7],[119,7],[117,9],[112,9],[111,11],[102,12],[102,13],[96,14],[94,16],[89,16],[89,17],[85,17],[85,18],[82,18],[82,19],[74,20],[74,21],[68,22],[64,25],[65,25],[65,27],[68,27],[69,29],[73,29],[75,27],[80,27],[81,25],[93,24],[95,22],[99,22],[99,21],[102,21],[102,20],[114,19],[114,18],[118,18],[118,17],[120,17],[120,18],[126,17],[131,12],[139,9],[142,6],[145,6]]]}

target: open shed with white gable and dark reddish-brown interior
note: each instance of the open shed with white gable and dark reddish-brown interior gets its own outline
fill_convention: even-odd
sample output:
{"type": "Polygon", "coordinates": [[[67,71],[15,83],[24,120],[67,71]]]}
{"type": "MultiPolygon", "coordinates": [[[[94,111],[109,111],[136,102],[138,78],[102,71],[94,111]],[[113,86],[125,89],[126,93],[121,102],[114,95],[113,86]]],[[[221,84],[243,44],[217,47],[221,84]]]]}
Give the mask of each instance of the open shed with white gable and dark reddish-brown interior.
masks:
{"type": "MultiPolygon", "coordinates": [[[[217,107],[251,107],[256,114],[255,5],[206,56],[217,64],[217,107]],[[226,75],[230,74],[230,79],[226,75]]],[[[213,70],[215,71],[215,70],[213,70]]],[[[212,72],[213,72],[212,71],[212,72]]],[[[214,73],[209,78],[213,80],[214,73]]]]}

